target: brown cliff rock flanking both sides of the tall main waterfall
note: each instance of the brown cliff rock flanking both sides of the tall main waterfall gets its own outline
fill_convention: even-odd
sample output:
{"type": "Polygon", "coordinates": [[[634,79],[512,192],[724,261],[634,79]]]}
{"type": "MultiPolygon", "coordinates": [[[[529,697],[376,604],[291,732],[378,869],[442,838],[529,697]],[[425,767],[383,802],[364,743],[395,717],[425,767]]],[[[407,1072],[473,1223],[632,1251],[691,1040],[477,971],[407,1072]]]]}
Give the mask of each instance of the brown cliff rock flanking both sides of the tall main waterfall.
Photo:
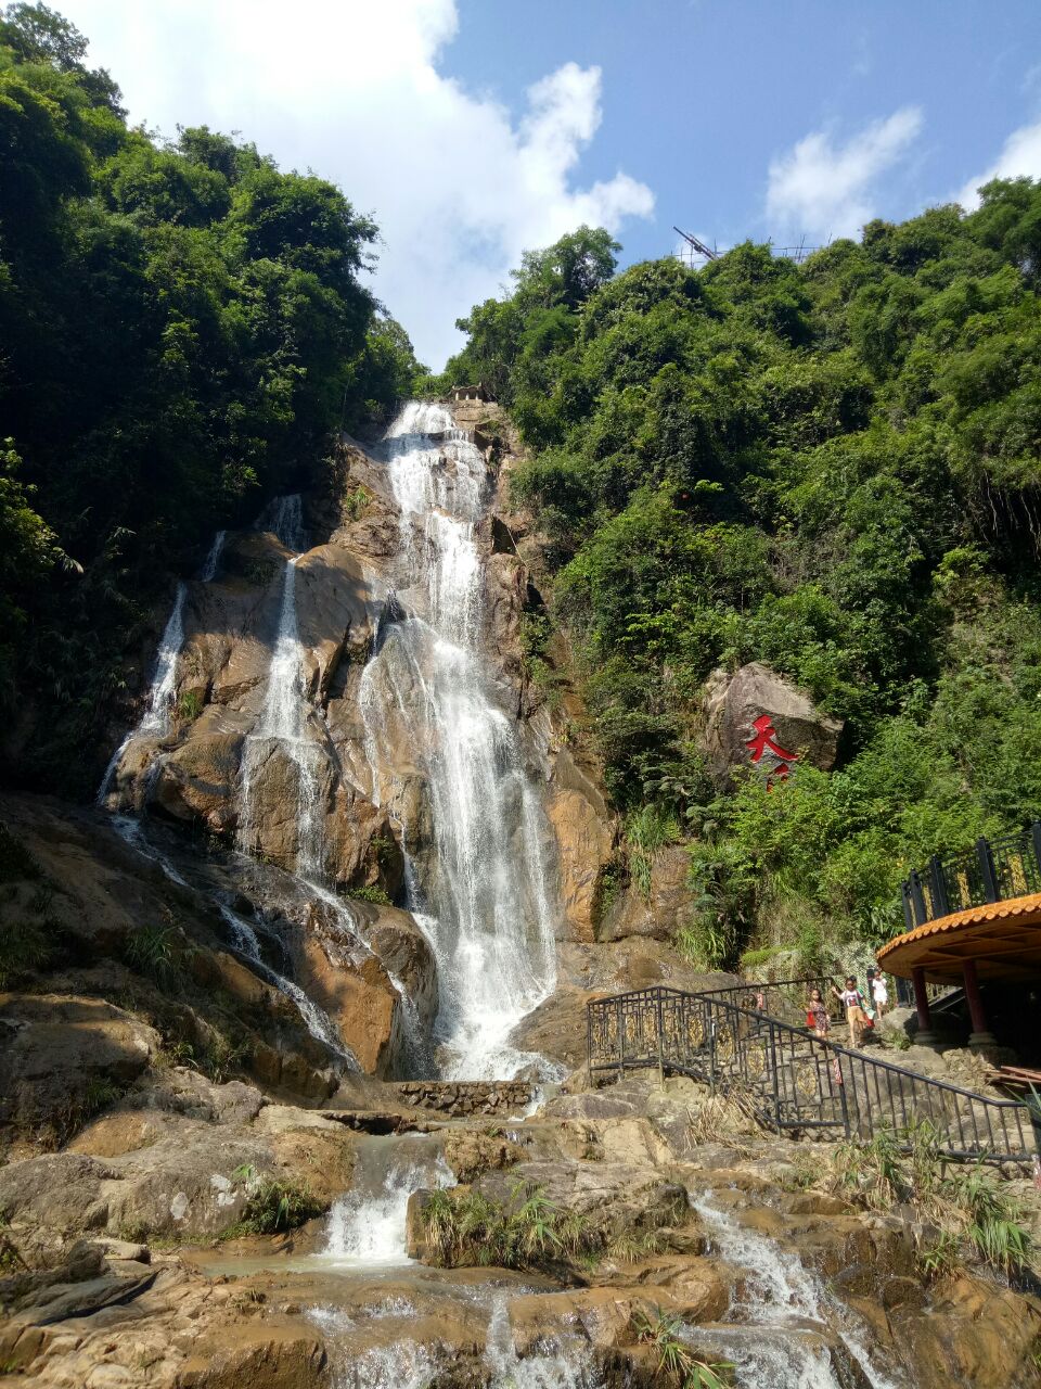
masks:
{"type": "MultiPolygon", "coordinates": [[[[525,675],[523,614],[539,596],[500,518],[498,479],[508,458],[504,468],[477,428],[494,414],[486,403],[457,407],[458,428],[484,450],[486,501],[475,531],[477,644],[491,699],[515,731],[523,776],[544,808],[537,851],[558,904],[555,932],[590,942],[597,881],[616,829],[595,765],[564,746],[555,717],[525,675]]],[[[451,443],[446,435],[434,464],[450,481],[458,467],[451,443]]],[[[197,856],[201,849],[203,857],[226,860],[244,849],[341,899],[403,900],[407,858],[425,883],[436,886],[447,871],[430,789],[439,750],[423,717],[434,660],[423,643],[439,640],[436,624],[421,640],[386,640],[403,617],[422,622],[439,601],[415,583],[415,557],[422,560],[433,543],[429,517],[403,518],[386,453],[344,442],[323,485],[304,497],[307,542],[285,528],[276,533],[276,519],[269,510],[258,529],[229,535],[215,572],[185,586],[182,644],[164,717],[146,718],[128,742],[105,804],[179,825],[194,836],[197,856]],[[303,551],[300,543],[307,544],[303,551]],[[272,713],[272,672],[282,658],[289,583],[301,699],[290,735],[283,728],[271,736],[272,720],[286,717],[285,710],[272,713]]],[[[502,814],[518,817],[504,835],[519,845],[522,803],[504,801],[502,814]]],[[[523,832],[530,828],[529,814],[523,832]]],[[[225,868],[232,876],[243,871],[240,863],[225,868]]],[[[291,918],[291,976],[333,1018],[361,1067],[400,1070],[404,995],[411,995],[414,1029],[418,1020],[428,1032],[436,1011],[433,961],[411,918],[397,913],[393,931],[373,932],[362,904],[341,910],[337,921],[329,901],[315,897],[297,900],[287,917],[285,893],[257,872],[246,896],[251,910],[279,917],[283,926],[291,918]],[[404,970],[397,968],[401,949],[393,958],[386,953],[391,935],[409,942],[401,947],[409,957],[404,970]]]]}

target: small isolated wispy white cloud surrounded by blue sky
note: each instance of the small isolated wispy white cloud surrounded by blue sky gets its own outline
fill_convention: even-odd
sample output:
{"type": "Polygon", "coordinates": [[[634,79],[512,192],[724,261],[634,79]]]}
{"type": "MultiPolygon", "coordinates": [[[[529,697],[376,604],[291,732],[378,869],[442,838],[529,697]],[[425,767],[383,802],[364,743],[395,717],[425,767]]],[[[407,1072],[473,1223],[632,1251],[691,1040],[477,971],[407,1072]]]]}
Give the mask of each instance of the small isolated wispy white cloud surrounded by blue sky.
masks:
{"type": "Polygon", "coordinates": [[[845,144],[815,131],[770,163],[766,215],[773,232],[855,236],[874,215],[879,176],[909,150],[922,111],[902,107],[873,121],[845,144]]]}

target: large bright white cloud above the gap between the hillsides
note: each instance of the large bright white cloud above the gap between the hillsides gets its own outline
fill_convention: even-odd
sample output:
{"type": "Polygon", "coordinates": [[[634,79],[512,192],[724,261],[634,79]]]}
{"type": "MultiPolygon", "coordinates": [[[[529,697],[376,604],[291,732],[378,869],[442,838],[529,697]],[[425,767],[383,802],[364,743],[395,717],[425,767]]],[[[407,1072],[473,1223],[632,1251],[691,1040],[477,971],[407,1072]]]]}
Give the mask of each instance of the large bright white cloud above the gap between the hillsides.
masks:
{"type": "Polygon", "coordinates": [[[618,231],[651,190],[618,172],[576,186],[601,119],[601,74],[565,63],[519,122],[444,75],[455,0],[64,0],[133,121],[240,131],[283,168],[312,168],[372,213],[376,293],[440,367],[452,325],[520,251],[580,222],[618,231]]]}

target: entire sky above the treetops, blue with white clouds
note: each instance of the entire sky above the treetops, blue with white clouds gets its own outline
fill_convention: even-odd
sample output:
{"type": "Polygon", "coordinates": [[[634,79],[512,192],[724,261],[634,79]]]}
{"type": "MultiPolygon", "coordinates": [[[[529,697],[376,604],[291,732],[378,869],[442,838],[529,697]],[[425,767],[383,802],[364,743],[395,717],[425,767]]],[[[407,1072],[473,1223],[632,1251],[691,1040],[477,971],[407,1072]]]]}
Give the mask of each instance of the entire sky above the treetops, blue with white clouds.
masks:
{"type": "Polygon", "coordinates": [[[383,229],[376,290],[433,367],[525,247],[625,261],[856,235],[1041,176],[1038,0],[57,0],[133,119],[242,131],[383,229]]]}

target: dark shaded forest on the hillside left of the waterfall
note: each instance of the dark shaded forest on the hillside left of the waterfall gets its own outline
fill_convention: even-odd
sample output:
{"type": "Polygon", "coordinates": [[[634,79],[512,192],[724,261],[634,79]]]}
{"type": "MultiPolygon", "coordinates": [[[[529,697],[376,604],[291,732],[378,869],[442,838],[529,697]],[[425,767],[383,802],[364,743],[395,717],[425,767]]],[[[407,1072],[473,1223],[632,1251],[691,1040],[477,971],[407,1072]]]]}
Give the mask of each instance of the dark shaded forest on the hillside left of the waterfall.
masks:
{"type": "Polygon", "coordinates": [[[3,767],[76,795],[171,575],[415,371],[371,218],[253,144],[129,128],[86,46],[0,10],[3,767]]]}

